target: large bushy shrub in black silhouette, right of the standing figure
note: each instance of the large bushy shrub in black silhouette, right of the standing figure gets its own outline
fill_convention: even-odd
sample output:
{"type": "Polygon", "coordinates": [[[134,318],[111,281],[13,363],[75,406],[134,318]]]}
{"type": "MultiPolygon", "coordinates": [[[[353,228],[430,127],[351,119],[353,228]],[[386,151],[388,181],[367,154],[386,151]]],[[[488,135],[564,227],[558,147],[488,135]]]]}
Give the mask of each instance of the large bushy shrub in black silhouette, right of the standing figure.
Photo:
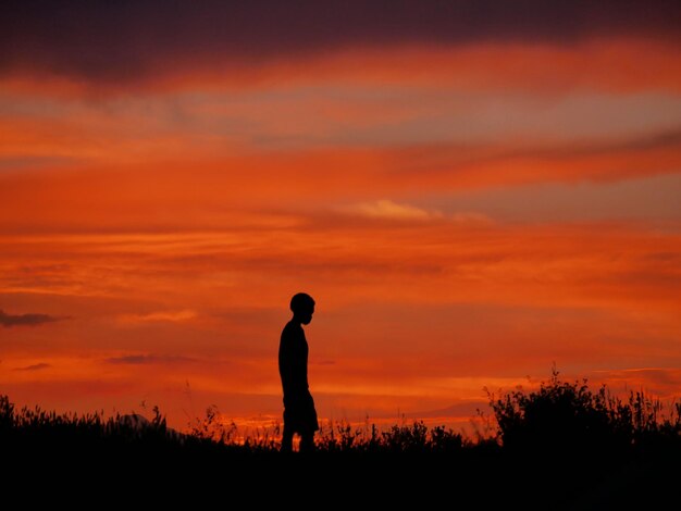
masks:
{"type": "Polygon", "coordinates": [[[586,379],[561,382],[554,369],[538,390],[488,392],[498,438],[508,450],[582,456],[626,451],[657,443],[679,443],[681,406],[672,403],[668,416],[659,400],[630,392],[622,401],[604,385],[593,392],[586,379]]]}

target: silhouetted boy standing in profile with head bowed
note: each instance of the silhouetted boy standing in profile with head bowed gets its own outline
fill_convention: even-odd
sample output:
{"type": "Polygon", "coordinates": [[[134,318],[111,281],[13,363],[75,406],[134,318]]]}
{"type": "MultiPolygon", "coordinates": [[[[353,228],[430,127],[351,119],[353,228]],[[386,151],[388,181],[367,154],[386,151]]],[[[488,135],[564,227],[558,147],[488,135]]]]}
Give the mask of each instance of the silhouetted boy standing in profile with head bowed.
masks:
{"type": "Polygon", "coordinates": [[[300,451],[314,449],[314,432],[319,429],[314,400],[308,385],[308,341],[301,325],[312,321],[314,300],[298,292],[290,299],[294,315],[282,331],[278,347],[278,372],[284,389],[284,434],[282,452],[293,450],[294,434],[300,435],[300,451]]]}

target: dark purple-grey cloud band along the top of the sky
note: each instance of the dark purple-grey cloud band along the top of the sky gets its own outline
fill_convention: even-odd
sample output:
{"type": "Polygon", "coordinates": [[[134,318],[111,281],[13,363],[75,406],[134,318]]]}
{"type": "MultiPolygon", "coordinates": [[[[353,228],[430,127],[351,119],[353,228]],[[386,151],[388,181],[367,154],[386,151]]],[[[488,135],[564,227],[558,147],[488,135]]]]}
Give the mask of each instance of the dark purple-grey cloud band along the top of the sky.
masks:
{"type": "Polygon", "coordinates": [[[679,26],[673,0],[10,0],[0,16],[0,73],[117,85],[343,48],[608,36],[678,42],[679,26]]]}

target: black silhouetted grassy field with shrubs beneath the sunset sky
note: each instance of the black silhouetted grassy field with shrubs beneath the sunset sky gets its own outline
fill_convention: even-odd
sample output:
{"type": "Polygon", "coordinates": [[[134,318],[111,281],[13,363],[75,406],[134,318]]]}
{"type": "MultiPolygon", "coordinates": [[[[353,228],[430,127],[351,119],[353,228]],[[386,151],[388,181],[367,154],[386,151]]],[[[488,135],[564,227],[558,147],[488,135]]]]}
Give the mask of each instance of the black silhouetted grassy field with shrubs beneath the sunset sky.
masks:
{"type": "Polygon", "coordinates": [[[50,503],[91,491],[104,503],[156,506],[236,496],[257,508],[678,506],[680,403],[641,392],[622,400],[554,374],[537,390],[490,396],[490,407],[496,432],[488,438],[418,421],[387,431],[336,424],[318,436],[314,453],[284,456],[275,437],[235,441],[210,413],[178,434],[158,409],[139,424],[16,410],[0,396],[3,481],[5,489],[41,488],[32,498],[51,496],[50,503]]]}

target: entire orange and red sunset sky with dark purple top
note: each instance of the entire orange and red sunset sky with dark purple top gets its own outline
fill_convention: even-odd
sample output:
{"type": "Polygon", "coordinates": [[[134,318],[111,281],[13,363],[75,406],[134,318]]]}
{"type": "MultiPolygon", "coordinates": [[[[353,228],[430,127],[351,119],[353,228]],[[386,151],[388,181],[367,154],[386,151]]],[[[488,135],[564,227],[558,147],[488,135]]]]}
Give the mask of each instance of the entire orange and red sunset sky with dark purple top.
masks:
{"type": "Polygon", "coordinates": [[[679,27],[674,1],[3,2],[0,394],[280,420],[307,291],[324,419],[456,423],[553,364],[681,397],[679,27]]]}

